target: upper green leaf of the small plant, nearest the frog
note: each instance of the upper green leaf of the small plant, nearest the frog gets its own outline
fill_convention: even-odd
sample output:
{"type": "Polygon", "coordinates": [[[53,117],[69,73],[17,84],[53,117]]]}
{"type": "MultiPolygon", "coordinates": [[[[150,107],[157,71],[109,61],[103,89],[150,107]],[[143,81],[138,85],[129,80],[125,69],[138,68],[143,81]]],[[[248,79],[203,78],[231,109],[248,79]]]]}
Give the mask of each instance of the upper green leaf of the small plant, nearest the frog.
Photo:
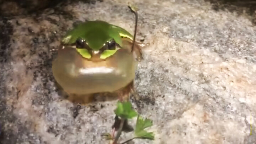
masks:
{"type": "Polygon", "coordinates": [[[114,110],[117,116],[121,118],[133,118],[137,116],[137,112],[132,109],[132,104],[130,102],[117,102],[117,108],[114,110]]]}

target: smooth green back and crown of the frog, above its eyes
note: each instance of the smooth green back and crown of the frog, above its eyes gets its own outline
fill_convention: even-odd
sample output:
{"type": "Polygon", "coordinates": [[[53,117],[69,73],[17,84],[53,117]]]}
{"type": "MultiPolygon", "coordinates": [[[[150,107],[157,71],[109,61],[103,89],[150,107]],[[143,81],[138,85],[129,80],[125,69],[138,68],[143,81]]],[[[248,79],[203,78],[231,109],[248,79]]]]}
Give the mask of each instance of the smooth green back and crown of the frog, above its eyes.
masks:
{"type": "Polygon", "coordinates": [[[114,39],[122,47],[121,36],[133,38],[128,31],[121,27],[104,21],[87,21],[69,31],[62,39],[62,42],[64,44],[72,44],[75,43],[76,39],[82,38],[86,40],[91,49],[99,50],[104,43],[111,39],[114,39]]]}

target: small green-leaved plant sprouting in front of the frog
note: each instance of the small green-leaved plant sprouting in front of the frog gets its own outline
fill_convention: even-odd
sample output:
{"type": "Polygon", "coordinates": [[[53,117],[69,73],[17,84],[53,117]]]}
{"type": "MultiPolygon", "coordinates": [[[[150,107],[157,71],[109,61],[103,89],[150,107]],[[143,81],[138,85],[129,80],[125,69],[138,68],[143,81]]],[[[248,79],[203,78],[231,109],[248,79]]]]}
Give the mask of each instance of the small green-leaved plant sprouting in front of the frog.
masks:
{"type": "Polygon", "coordinates": [[[110,144],[126,144],[133,139],[150,139],[154,140],[154,133],[147,132],[145,128],[151,127],[153,125],[152,121],[148,118],[143,119],[143,117],[139,116],[136,111],[133,110],[132,104],[128,102],[117,102],[117,108],[114,110],[116,114],[115,123],[113,125],[113,130],[117,127],[117,134],[105,133],[104,136],[107,140],[110,140],[110,144]],[[125,131],[124,128],[128,127],[127,120],[132,119],[137,116],[137,122],[134,130],[134,137],[126,140],[125,142],[118,142],[118,139],[121,136],[122,131],[125,131]],[[117,125],[117,126],[115,126],[117,125]]]}

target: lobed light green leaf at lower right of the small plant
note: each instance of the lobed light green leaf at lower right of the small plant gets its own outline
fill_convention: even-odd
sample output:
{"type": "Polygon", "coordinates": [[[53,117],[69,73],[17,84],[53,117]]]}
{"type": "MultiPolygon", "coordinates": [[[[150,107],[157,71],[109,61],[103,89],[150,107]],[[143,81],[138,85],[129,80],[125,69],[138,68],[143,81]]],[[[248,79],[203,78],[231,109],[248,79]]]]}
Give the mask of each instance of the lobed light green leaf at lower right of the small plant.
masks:
{"type": "Polygon", "coordinates": [[[146,118],[143,119],[141,116],[138,115],[137,117],[137,122],[136,122],[136,127],[135,127],[135,135],[138,138],[142,139],[150,139],[154,140],[154,133],[153,132],[147,132],[144,130],[147,127],[153,126],[153,123],[150,119],[146,118]]]}

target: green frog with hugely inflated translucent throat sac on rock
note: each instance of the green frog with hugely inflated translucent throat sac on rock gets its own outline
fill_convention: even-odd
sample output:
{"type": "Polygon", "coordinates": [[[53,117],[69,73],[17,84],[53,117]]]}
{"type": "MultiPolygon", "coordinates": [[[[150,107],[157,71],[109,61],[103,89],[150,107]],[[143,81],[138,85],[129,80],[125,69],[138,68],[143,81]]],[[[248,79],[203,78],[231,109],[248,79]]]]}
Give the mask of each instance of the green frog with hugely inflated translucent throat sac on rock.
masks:
{"type": "Polygon", "coordinates": [[[93,20],[78,24],[62,38],[52,73],[58,86],[75,103],[101,98],[127,100],[134,91],[142,47],[134,35],[111,23],[93,20]]]}

